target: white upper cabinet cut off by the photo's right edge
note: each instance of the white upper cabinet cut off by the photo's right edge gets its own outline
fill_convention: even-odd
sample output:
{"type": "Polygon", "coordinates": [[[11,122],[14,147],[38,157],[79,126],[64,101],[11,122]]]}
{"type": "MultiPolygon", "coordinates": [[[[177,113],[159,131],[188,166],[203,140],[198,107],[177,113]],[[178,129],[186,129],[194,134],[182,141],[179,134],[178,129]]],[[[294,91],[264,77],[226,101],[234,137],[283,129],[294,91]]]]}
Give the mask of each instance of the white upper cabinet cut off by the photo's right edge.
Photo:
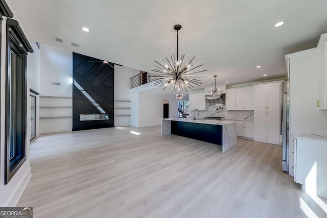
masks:
{"type": "Polygon", "coordinates": [[[318,106],[320,110],[327,110],[327,34],[322,34],[318,43],[320,54],[320,96],[318,106]]]}

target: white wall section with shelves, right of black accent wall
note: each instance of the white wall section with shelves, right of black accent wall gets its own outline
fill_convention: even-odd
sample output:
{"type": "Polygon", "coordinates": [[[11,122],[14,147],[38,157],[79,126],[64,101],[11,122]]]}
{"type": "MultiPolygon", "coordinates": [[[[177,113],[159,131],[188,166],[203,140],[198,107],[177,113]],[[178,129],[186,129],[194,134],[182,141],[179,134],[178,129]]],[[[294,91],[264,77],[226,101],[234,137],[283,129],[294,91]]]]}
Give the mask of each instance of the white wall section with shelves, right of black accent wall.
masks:
{"type": "Polygon", "coordinates": [[[114,65],[114,126],[131,124],[130,78],[139,74],[139,70],[126,66],[114,65]],[[127,116],[126,116],[127,115],[127,116]]]}

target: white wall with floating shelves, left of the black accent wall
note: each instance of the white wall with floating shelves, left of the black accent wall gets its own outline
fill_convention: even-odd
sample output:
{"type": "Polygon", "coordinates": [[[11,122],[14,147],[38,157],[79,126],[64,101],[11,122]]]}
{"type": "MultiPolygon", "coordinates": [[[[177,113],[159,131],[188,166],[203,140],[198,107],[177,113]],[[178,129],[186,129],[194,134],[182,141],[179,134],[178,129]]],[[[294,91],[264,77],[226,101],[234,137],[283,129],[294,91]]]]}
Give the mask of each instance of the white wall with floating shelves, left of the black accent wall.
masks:
{"type": "Polygon", "coordinates": [[[72,131],[73,118],[73,84],[69,82],[73,78],[73,53],[58,49],[46,44],[40,44],[40,132],[72,131]],[[61,83],[60,86],[53,82],[61,83]],[[70,99],[49,99],[42,96],[57,96],[70,99]],[[42,108],[67,106],[71,108],[42,108]],[[67,118],[44,118],[44,117],[67,118]]]}

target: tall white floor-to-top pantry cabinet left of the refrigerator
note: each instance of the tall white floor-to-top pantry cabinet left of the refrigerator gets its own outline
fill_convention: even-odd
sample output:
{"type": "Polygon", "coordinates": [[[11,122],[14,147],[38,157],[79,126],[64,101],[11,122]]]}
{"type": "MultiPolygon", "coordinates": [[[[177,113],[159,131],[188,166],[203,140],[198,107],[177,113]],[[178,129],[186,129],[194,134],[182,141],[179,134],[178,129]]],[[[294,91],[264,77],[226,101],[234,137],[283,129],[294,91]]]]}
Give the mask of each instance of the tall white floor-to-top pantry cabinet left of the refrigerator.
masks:
{"type": "Polygon", "coordinates": [[[255,141],[280,144],[282,82],[254,85],[255,141]]]}

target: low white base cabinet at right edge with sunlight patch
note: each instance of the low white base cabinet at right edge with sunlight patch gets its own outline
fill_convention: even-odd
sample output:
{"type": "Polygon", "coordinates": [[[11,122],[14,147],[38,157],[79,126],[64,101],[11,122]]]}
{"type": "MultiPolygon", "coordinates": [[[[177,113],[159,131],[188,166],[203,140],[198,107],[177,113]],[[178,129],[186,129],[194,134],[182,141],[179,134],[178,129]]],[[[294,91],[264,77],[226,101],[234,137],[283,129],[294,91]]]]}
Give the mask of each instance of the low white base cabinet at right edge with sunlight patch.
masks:
{"type": "Polygon", "coordinates": [[[294,181],[302,190],[327,198],[327,137],[294,134],[294,181]]]}

